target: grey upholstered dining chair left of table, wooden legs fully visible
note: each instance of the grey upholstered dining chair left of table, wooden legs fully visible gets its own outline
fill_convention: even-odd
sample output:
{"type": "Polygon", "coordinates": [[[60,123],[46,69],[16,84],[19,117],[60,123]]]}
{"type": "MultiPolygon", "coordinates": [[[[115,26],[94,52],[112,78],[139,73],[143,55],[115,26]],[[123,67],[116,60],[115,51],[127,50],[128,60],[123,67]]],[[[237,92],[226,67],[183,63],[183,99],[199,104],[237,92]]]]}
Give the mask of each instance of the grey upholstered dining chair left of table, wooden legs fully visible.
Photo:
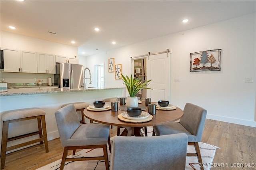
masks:
{"type": "Polygon", "coordinates": [[[55,112],[60,142],[64,152],[60,165],[63,170],[66,161],[105,160],[106,170],[109,169],[107,143],[109,141],[109,125],[101,123],[80,124],[73,104],[67,105],[55,112]],[[86,158],[67,158],[68,150],[102,148],[104,156],[86,158]]]}

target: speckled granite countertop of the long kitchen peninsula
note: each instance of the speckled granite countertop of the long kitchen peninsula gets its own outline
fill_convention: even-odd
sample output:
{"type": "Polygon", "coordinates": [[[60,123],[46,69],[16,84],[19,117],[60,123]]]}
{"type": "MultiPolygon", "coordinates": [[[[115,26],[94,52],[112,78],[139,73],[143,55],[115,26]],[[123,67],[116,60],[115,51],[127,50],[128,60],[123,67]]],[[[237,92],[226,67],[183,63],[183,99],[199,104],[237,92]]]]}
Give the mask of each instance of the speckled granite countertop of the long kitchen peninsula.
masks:
{"type": "MultiPolygon", "coordinates": [[[[44,87],[44,86],[40,86],[44,87]]],[[[52,87],[52,86],[46,86],[52,87]]],[[[78,91],[96,91],[96,90],[106,90],[106,89],[125,89],[125,87],[104,87],[104,88],[86,88],[86,89],[61,89],[61,88],[13,88],[8,89],[7,92],[0,92],[0,96],[14,96],[14,95],[33,95],[33,94],[47,94],[47,93],[68,93],[68,92],[78,92],[78,91]]]]}

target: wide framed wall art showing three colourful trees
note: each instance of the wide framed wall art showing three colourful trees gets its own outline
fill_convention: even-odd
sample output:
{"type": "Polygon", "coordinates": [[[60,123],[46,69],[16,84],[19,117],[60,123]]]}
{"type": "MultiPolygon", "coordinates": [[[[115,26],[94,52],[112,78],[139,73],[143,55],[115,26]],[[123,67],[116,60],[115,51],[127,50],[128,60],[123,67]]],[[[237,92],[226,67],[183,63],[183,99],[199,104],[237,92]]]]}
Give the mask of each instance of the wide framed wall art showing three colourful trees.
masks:
{"type": "Polygon", "coordinates": [[[190,72],[220,71],[221,49],[190,53],[190,72]]]}

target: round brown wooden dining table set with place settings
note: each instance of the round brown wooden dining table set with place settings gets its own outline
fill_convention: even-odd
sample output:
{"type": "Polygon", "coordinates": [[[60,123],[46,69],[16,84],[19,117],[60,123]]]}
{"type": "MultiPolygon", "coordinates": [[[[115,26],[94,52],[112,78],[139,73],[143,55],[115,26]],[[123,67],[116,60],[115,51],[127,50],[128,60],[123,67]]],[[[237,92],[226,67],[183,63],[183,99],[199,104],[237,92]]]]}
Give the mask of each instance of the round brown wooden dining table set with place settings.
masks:
{"type": "MultiPolygon", "coordinates": [[[[90,119],[90,121],[95,121],[106,125],[131,127],[130,129],[132,130],[132,136],[142,136],[140,129],[143,127],[163,125],[169,122],[177,121],[183,115],[182,109],[174,106],[175,109],[172,110],[157,109],[158,111],[156,111],[155,115],[149,115],[150,117],[148,117],[147,119],[142,119],[136,122],[133,120],[131,121],[130,119],[123,119],[122,115],[124,114],[124,112],[126,112],[126,105],[120,105],[120,103],[118,103],[118,111],[112,111],[111,102],[106,102],[105,104],[110,105],[110,108],[94,110],[90,107],[87,107],[86,109],[84,109],[84,116],[90,119]],[[150,118],[152,119],[150,120],[150,118]]],[[[151,104],[157,105],[158,103],[151,102],[151,104]]],[[[138,107],[142,108],[143,112],[148,113],[148,106],[145,105],[145,101],[141,101],[140,104],[138,104],[138,107]]]]}

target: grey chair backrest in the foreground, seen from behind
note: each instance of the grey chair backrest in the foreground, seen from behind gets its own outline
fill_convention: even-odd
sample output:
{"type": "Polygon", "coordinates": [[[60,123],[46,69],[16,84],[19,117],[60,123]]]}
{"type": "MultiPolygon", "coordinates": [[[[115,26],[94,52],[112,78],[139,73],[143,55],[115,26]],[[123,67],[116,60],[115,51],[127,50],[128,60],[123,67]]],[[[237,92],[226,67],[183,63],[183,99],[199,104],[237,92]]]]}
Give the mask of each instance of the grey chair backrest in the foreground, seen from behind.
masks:
{"type": "Polygon", "coordinates": [[[111,170],[185,169],[188,136],[185,133],[162,136],[115,136],[111,170]]]}

